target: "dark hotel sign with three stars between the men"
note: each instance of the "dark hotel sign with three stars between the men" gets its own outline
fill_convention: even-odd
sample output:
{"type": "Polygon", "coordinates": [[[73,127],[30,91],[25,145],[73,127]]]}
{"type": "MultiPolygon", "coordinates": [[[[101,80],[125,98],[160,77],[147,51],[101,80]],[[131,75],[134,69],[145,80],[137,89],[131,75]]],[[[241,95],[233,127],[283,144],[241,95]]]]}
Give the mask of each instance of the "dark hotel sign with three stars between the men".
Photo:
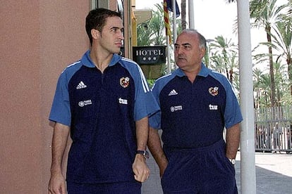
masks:
{"type": "Polygon", "coordinates": [[[139,65],[166,63],[166,46],[133,46],[133,60],[139,65]]]}

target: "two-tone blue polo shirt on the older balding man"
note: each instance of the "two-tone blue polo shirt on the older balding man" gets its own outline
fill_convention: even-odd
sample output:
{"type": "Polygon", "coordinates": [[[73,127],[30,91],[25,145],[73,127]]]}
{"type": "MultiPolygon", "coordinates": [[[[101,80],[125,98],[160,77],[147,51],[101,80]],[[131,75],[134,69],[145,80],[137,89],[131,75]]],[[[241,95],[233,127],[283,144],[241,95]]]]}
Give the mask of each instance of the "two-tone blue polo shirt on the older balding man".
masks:
{"type": "Polygon", "coordinates": [[[195,82],[177,69],[157,79],[152,92],[161,111],[150,117],[150,126],[163,130],[165,148],[212,145],[222,138],[224,127],[243,119],[229,80],[203,63],[195,82]]]}

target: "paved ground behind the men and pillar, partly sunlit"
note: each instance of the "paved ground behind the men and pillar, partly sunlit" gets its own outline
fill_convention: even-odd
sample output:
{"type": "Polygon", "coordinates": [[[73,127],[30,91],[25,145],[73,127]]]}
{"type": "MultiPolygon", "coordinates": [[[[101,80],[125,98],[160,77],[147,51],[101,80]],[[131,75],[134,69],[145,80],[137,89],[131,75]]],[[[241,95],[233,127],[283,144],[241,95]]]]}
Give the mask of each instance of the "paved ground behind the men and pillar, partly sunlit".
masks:
{"type": "MultiPolygon", "coordinates": [[[[142,184],[142,194],[162,194],[159,168],[153,157],[147,160],[150,178],[142,184]]],[[[241,193],[241,153],[236,157],[236,182],[241,193]]],[[[255,153],[257,194],[292,193],[292,154],[255,153]]],[[[191,193],[190,193],[191,194],[191,193]]]]}

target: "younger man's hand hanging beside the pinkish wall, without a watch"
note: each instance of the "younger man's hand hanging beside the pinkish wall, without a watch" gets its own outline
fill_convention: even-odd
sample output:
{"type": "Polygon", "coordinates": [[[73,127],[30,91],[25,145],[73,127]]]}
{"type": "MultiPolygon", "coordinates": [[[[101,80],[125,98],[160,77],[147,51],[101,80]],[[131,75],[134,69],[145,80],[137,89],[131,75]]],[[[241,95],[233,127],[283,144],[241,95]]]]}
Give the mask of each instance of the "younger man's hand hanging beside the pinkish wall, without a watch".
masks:
{"type": "Polygon", "coordinates": [[[49,194],[65,194],[66,186],[63,174],[52,175],[49,179],[49,194]]]}

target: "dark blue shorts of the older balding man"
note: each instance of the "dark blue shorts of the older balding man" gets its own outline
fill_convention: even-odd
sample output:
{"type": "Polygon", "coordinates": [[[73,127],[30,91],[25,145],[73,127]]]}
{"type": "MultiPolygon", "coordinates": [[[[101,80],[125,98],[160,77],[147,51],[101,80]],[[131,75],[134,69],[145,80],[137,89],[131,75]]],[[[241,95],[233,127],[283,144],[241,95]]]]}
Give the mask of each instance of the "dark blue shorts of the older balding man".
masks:
{"type": "Polygon", "coordinates": [[[233,164],[223,140],[204,148],[171,150],[162,176],[164,194],[238,193],[233,164]]]}

